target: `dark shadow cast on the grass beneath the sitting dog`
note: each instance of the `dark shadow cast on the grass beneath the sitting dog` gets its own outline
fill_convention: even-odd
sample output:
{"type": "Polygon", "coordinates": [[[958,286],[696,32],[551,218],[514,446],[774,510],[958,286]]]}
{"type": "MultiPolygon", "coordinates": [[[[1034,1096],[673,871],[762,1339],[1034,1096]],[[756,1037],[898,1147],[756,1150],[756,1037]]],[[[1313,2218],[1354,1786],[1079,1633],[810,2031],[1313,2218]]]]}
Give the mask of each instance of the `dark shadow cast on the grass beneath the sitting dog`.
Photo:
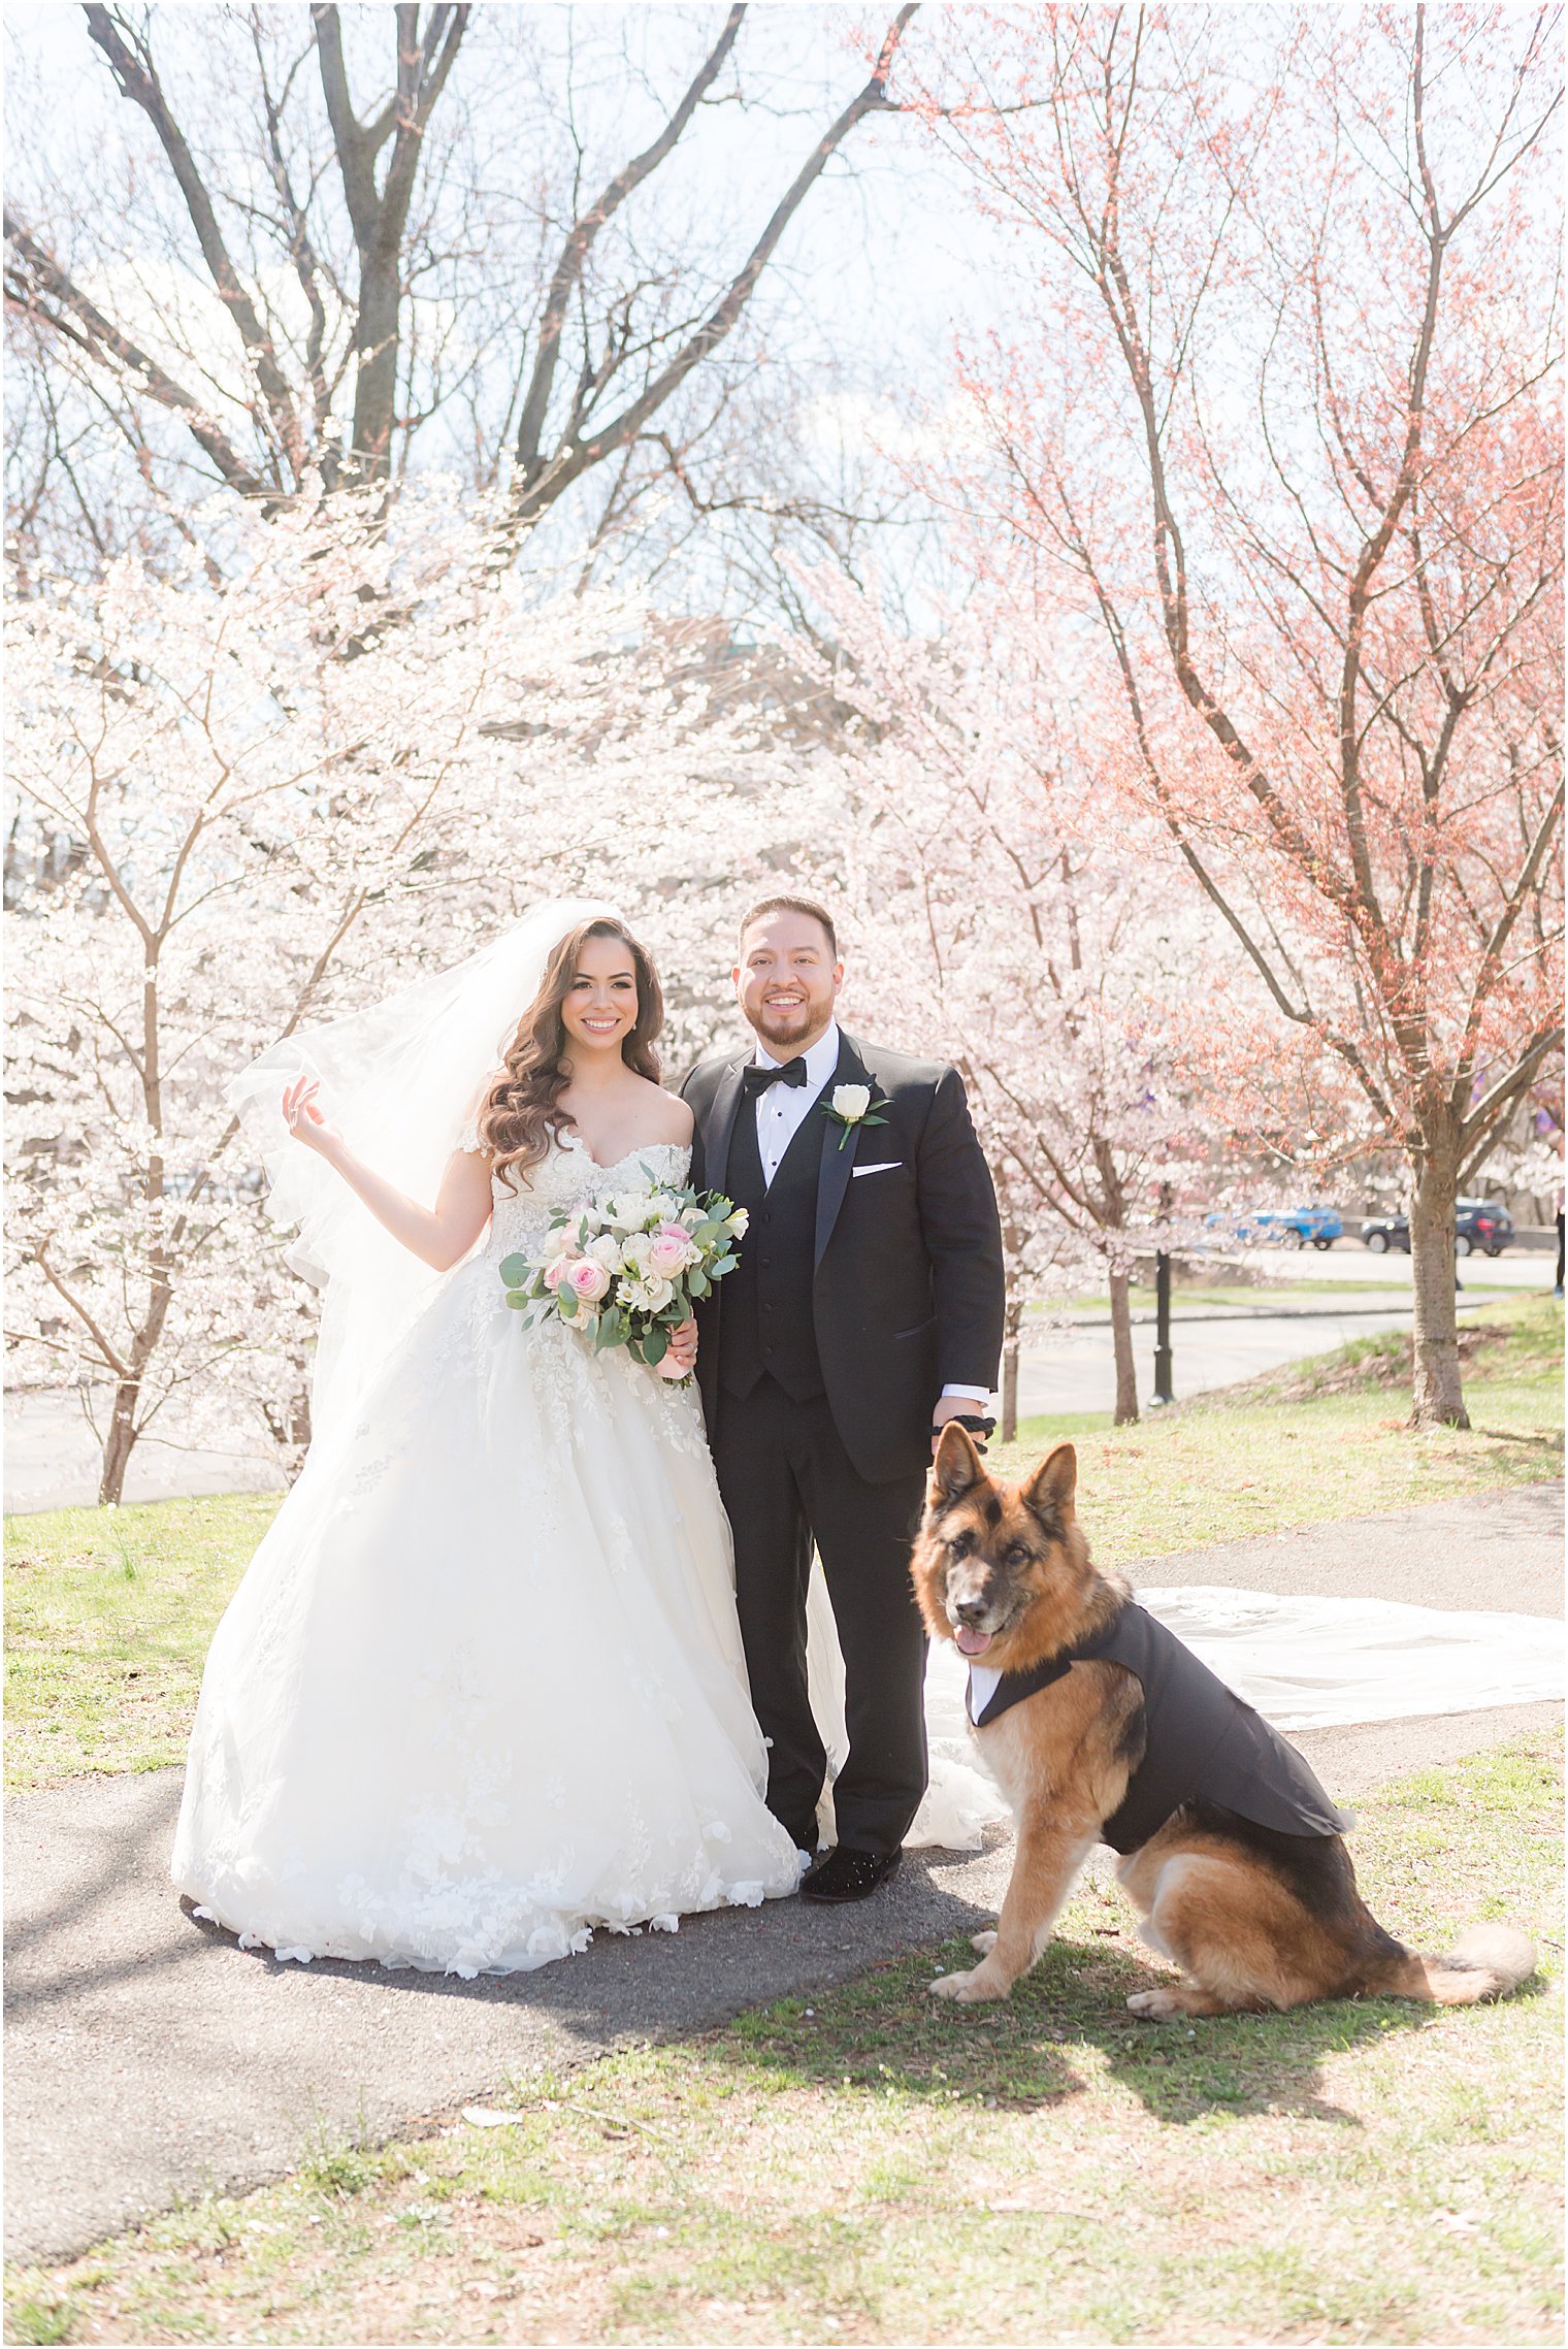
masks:
{"type": "Polygon", "coordinates": [[[1324,2060],[1437,2020],[1437,2008],[1408,1999],[1338,1999],[1289,2015],[1138,2022],[1127,1994],[1169,1976],[1091,1940],[1054,1943],[998,2006],[932,1999],[937,1973],[969,1964],[967,1943],[955,1940],[824,1992],[812,2011],[784,1999],[732,2022],[707,2060],[786,2074],[791,2086],[1016,2112],[1101,2086],[1101,2065],[1084,2062],[1099,2051],[1110,2079],[1174,2126],[1268,2112],[1359,2128],[1324,2093],[1324,2060]]]}

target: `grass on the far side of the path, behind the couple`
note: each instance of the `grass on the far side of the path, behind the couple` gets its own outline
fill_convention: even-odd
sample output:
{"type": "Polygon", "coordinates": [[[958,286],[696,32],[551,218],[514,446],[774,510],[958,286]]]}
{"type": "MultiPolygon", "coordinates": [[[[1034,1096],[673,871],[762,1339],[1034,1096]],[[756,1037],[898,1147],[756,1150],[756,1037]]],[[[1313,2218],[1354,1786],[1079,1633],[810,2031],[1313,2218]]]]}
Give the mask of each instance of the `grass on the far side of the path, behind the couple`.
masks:
{"type": "MultiPolygon", "coordinates": [[[[1030,1419],[993,1459],[1016,1475],[1070,1435],[1106,1564],[1556,1478],[1563,1308],[1488,1306],[1488,1327],[1505,1334],[1472,1355],[1465,1433],[1406,1428],[1406,1395],[1387,1384],[1408,1346],[1394,1334],[1134,1428],[1030,1419]]],[[[275,1508],[270,1494],[232,1494],[7,1520],[9,1785],[183,1757],[207,1642],[275,1508]]]]}

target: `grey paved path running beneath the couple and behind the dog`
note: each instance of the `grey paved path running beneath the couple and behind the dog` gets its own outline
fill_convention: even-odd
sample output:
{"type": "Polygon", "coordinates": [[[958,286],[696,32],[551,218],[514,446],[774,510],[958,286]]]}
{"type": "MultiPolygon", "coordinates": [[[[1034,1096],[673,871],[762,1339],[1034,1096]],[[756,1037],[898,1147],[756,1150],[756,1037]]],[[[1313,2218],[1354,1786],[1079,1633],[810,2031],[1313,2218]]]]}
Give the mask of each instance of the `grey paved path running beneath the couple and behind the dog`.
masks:
{"type": "MultiPolygon", "coordinates": [[[[1561,1485],[1148,1562],[1209,1581],[1559,1611],[1561,1485]]],[[[1556,1719],[1516,1705],[1298,1738],[1338,1797],[1556,1719]]],[[[568,1964],[448,1983],[279,1966],[192,1924],[167,1879],[178,1771],[23,1795],[7,1813],[7,2248],[63,2260],[209,2187],[293,2168],[322,2138],[387,2138],[629,2041],[676,2037],[864,1973],[995,1914],[1007,1844],[911,1856],[857,1910],[770,1903],[606,1938],[568,1964]]]]}

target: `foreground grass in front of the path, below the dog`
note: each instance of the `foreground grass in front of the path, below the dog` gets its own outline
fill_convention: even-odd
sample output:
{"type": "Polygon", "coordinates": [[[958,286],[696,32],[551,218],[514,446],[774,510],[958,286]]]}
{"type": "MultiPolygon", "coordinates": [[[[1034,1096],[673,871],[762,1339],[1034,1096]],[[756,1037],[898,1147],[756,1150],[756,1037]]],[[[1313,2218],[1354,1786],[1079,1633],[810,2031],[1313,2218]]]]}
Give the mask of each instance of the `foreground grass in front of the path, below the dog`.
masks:
{"type": "Polygon", "coordinates": [[[9,2340],[1554,2342],[1561,1741],[1361,1799],[1401,1938],[1533,1931],[1498,2006],[1150,2027],[1089,1882],[1007,2006],[965,1943],[634,2048],[385,2149],[204,2201],[54,2271],[9,2340]]]}

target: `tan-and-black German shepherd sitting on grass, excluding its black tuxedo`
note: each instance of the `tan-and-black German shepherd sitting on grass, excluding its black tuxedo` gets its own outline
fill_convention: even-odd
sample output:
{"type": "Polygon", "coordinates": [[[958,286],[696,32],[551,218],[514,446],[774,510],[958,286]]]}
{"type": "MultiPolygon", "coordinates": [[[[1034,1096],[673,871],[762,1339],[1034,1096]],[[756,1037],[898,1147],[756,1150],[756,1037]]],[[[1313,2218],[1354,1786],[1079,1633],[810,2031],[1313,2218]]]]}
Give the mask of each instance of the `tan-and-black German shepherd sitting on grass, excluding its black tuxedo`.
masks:
{"type": "MultiPolygon", "coordinates": [[[[911,1562],[934,1640],[984,1656],[988,1672],[1014,1675],[1117,1637],[1131,1593],[1089,1562],[1075,1487],[1073,1445],[1056,1445],[1026,1482],[1002,1485],[962,1428],[944,1428],[911,1562]]],[[[998,1931],[974,1936],[979,1966],[932,1983],[939,1999],[1005,1999],[1035,1964],[1143,1762],[1143,1694],[1120,1663],[1080,1658],[974,1731],[1012,1804],[1016,1853],[998,1931]]],[[[1253,1741],[1277,1738],[1246,1708],[1235,1710],[1253,1741]]],[[[1282,1762],[1322,1797],[1293,1750],[1282,1762]]],[[[1329,1820],[1338,1816],[1326,1797],[1324,1809],[1329,1820]]],[[[1404,1950],[1361,1903],[1333,1832],[1282,1835],[1192,1799],[1136,1849],[1122,1849],[1117,1877],[1143,1917],[1141,1938],[1183,1976],[1129,1997],[1131,2013],[1153,2022],[1390,1992],[1469,2006],[1516,1990],[1535,1968],[1535,1950],[1512,1926],[1476,1926],[1448,1957],[1404,1950]]]]}

